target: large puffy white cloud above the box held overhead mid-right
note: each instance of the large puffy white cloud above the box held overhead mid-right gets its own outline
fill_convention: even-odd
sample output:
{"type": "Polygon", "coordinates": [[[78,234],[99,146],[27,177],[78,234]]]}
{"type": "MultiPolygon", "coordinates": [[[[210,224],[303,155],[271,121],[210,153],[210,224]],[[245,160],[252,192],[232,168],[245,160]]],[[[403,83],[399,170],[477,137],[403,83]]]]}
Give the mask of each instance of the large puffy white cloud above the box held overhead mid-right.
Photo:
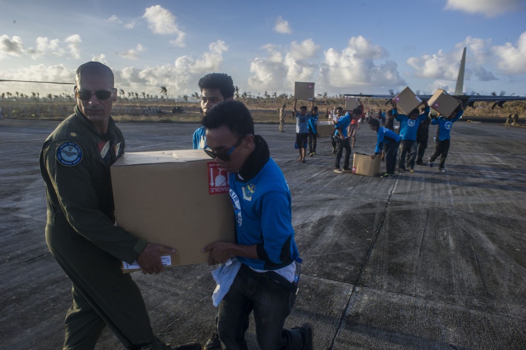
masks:
{"type": "Polygon", "coordinates": [[[331,87],[397,86],[405,82],[393,61],[376,65],[373,59],[386,58],[387,51],[362,36],[351,37],[343,50],[329,48],[321,68],[321,80],[331,87]]]}

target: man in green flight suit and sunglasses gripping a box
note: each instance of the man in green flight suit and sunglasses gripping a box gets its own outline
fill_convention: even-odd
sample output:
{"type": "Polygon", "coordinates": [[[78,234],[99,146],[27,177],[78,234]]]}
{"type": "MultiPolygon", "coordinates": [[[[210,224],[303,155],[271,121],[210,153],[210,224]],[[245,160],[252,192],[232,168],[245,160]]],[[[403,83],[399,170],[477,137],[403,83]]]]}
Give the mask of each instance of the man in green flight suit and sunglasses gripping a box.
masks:
{"type": "MultiPolygon", "coordinates": [[[[110,166],[124,153],[124,137],[110,111],[114,75],[99,62],[76,71],[74,114],[47,138],[40,155],[46,184],[46,242],[72,281],[64,349],[93,349],[107,325],[127,349],[169,349],[151,329],[143,297],[121,261],[137,260],[143,273],[162,272],[161,253],[114,225],[110,166]]],[[[177,349],[200,350],[197,343],[177,349]]]]}

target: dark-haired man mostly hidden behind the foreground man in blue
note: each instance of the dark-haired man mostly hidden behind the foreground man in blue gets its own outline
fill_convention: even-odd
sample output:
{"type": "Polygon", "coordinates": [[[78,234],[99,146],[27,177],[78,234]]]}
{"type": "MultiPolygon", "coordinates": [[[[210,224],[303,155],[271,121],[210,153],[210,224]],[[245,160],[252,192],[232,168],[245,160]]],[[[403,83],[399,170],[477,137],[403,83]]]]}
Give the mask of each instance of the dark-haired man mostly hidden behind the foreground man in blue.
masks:
{"type": "MultiPolygon", "coordinates": [[[[207,114],[210,108],[222,100],[234,98],[234,81],[225,73],[210,73],[199,79],[199,90],[201,90],[201,109],[207,114]]],[[[205,146],[205,128],[199,127],[194,131],[192,137],[193,148],[202,149],[205,146]]]]}

